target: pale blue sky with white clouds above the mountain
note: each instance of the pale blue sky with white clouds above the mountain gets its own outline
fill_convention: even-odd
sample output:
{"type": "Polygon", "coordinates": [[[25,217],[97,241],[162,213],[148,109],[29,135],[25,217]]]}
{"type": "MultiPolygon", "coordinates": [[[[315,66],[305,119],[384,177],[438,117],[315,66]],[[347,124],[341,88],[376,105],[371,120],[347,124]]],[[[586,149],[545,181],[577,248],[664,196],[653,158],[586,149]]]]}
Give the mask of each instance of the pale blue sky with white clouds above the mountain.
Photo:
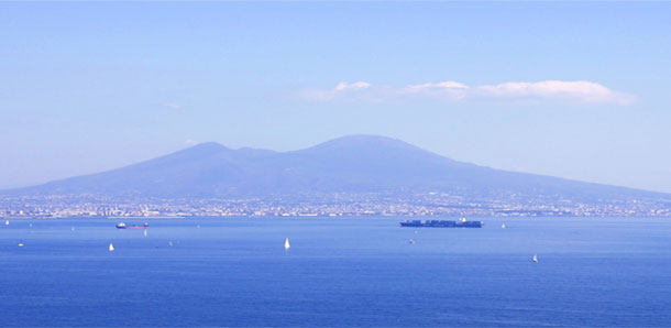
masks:
{"type": "Polygon", "coordinates": [[[0,188],[348,134],[671,193],[671,2],[1,2],[0,188]]]}

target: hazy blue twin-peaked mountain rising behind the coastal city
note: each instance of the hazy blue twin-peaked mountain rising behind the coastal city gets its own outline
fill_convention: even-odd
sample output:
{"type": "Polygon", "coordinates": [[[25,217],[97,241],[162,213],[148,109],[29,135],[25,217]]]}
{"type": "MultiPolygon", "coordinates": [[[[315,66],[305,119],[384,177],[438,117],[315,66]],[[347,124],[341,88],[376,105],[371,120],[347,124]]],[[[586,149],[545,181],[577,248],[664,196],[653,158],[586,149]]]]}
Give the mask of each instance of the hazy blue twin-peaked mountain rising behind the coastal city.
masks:
{"type": "Polygon", "coordinates": [[[396,139],[352,135],[274,152],[202,143],[98,174],[4,190],[11,196],[100,195],[114,198],[243,198],[342,193],[447,193],[477,198],[534,197],[586,203],[670,194],[507,172],[458,162],[396,139]]]}

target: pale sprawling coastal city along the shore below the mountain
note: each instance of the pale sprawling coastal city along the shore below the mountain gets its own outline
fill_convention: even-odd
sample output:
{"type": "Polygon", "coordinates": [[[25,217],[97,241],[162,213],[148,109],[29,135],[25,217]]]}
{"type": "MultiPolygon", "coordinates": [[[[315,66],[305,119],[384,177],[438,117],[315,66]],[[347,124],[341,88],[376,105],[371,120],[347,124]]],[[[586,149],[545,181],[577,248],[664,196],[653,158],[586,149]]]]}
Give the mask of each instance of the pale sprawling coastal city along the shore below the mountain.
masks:
{"type": "Polygon", "coordinates": [[[310,195],[309,198],[114,200],[86,197],[6,197],[3,218],[70,217],[345,217],[345,216],[492,216],[492,217],[669,217],[671,204],[653,200],[580,203],[542,198],[466,198],[446,194],[415,197],[378,194],[310,195]]]}

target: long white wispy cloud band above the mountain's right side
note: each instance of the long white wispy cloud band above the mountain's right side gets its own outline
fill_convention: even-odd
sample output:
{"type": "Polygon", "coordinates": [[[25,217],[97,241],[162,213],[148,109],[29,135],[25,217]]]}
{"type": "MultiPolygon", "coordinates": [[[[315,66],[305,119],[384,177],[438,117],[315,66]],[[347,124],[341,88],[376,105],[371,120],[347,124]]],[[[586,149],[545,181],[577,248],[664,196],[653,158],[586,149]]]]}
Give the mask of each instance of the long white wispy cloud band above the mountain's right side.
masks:
{"type": "Polygon", "coordinates": [[[507,81],[481,86],[447,80],[405,87],[373,86],[370,83],[358,81],[340,83],[329,90],[304,90],[301,96],[305,99],[317,101],[385,101],[399,98],[425,98],[446,101],[491,99],[628,105],[635,100],[631,95],[614,91],[601,84],[585,80],[507,81]]]}

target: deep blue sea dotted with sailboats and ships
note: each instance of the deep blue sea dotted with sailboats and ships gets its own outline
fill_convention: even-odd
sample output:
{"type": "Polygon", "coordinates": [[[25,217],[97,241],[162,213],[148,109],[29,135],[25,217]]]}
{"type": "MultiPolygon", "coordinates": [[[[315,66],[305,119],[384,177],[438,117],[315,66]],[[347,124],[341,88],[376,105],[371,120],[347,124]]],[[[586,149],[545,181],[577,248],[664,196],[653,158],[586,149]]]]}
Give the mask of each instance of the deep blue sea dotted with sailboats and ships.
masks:
{"type": "Polygon", "coordinates": [[[471,219],[2,221],[0,326],[671,327],[671,218],[471,219]]]}

